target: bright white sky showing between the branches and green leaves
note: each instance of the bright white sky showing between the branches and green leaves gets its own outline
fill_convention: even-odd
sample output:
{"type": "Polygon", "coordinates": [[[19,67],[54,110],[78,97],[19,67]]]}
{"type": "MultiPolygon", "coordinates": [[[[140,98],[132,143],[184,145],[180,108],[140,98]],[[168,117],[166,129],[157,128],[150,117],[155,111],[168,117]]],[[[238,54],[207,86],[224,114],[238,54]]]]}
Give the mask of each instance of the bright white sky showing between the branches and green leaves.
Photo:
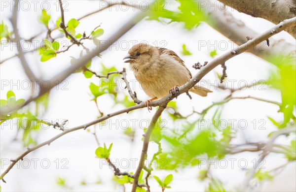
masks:
{"type": "MultiPolygon", "coordinates": [[[[4,21],[6,25],[9,27],[9,31],[12,30],[12,26],[8,22],[8,19],[11,16],[10,6],[3,7],[3,2],[1,1],[1,20],[4,21]]],[[[8,3],[12,3],[11,1],[6,1],[8,3]]],[[[19,15],[19,23],[18,28],[22,37],[30,38],[31,36],[38,33],[40,30],[44,30],[44,26],[37,21],[37,16],[41,13],[41,2],[37,1],[37,8],[34,10],[34,4],[32,1],[26,1],[30,3],[30,9],[28,11],[20,11],[19,15]]],[[[60,11],[57,10],[57,1],[47,1],[50,3],[50,9],[48,13],[51,14],[51,24],[55,23],[57,18],[60,16],[60,11]]],[[[87,13],[90,13],[94,10],[99,9],[100,2],[99,1],[91,1],[91,0],[72,0],[67,1],[69,5],[65,11],[65,21],[68,22],[71,18],[79,18],[87,13]]],[[[140,1],[139,1],[140,2],[140,1]]],[[[27,5],[25,5],[27,8],[27,5]]],[[[45,6],[45,5],[44,5],[45,6]]],[[[102,23],[101,27],[104,29],[105,33],[100,37],[101,40],[107,39],[109,35],[115,32],[120,26],[122,26],[129,18],[131,18],[136,11],[133,11],[132,8],[129,8],[127,11],[124,11],[124,6],[117,8],[112,7],[111,11],[106,9],[101,13],[94,14],[86,19],[80,21],[79,26],[76,28],[77,32],[89,34],[96,26],[102,23]]],[[[238,13],[233,11],[233,14],[236,18],[241,19],[247,26],[252,28],[257,32],[264,32],[273,26],[272,23],[267,22],[266,20],[253,18],[251,16],[238,13]]],[[[166,43],[165,48],[174,50],[184,61],[186,66],[195,74],[197,71],[191,67],[192,64],[196,62],[203,63],[204,61],[211,61],[209,56],[209,52],[213,49],[217,50],[218,56],[225,53],[225,51],[231,50],[231,43],[229,40],[222,36],[219,32],[216,32],[211,27],[206,24],[201,24],[197,29],[192,30],[190,32],[184,30],[182,28],[183,24],[172,23],[170,25],[164,25],[156,21],[146,21],[143,20],[137,26],[135,26],[132,30],[123,35],[117,42],[117,45],[112,46],[111,51],[105,51],[102,53],[102,59],[94,58],[92,60],[92,69],[95,71],[99,71],[101,68],[101,63],[107,66],[115,66],[118,70],[121,70],[122,67],[128,68],[128,64],[123,63],[122,58],[127,55],[127,49],[125,48],[125,42],[129,42],[130,46],[132,45],[133,40],[137,40],[138,42],[142,40],[148,41],[149,44],[153,42],[157,42],[158,46],[161,46],[162,42],[166,43]],[[201,41],[206,41],[206,47],[199,47],[199,43],[201,41]],[[227,50],[221,51],[221,47],[219,43],[225,41],[228,42],[227,50]],[[212,47],[208,47],[208,43],[212,44],[212,47]],[[215,44],[216,46],[213,46],[215,44]],[[187,49],[192,53],[191,56],[182,56],[182,45],[186,44],[187,49]],[[124,46],[124,47],[123,47],[124,46]]],[[[53,33],[53,36],[55,36],[53,33]]],[[[45,33],[44,33],[45,35],[45,33]]],[[[41,35],[42,36],[42,35],[41,35]]],[[[43,36],[42,36],[43,37],[43,36]]],[[[286,39],[290,43],[295,43],[295,39],[291,37],[286,32],[281,32],[280,34],[276,34],[273,36],[276,39],[286,39]]],[[[64,40],[64,39],[63,39],[64,40]]],[[[84,41],[84,45],[92,50],[95,45],[91,41],[84,41]]],[[[210,46],[210,45],[209,45],[210,46]]],[[[236,46],[236,45],[234,45],[236,46]]],[[[129,47],[130,48],[130,47],[129,47]]],[[[222,47],[224,48],[224,47],[222,47]]],[[[73,56],[75,58],[79,57],[81,47],[73,46],[66,53],[61,53],[57,56],[57,58],[53,58],[48,62],[41,63],[40,56],[38,53],[29,53],[26,54],[26,58],[29,61],[31,68],[34,68],[34,71],[37,74],[42,74],[43,79],[49,79],[53,75],[59,73],[64,68],[70,65],[69,56],[73,56]],[[40,70],[40,71],[38,71],[40,70]],[[41,73],[40,73],[41,72],[41,73]]],[[[17,53],[16,47],[3,47],[1,46],[1,60],[14,55],[17,53]]],[[[85,54],[85,52],[84,52],[85,54]]],[[[10,82],[16,83],[17,80],[25,80],[27,79],[25,73],[21,68],[21,64],[17,58],[11,59],[4,64],[0,65],[0,78],[1,78],[1,90],[0,90],[0,98],[5,99],[7,91],[10,90],[9,86],[3,87],[3,80],[8,80],[10,82]]],[[[240,80],[248,82],[248,84],[258,81],[264,80],[268,78],[270,74],[270,70],[272,69],[271,64],[262,61],[261,59],[244,53],[241,54],[226,63],[227,66],[227,75],[228,80],[236,80],[234,86],[238,86],[238,82],[240,80]]],[[[222,68],[217,67],[214,69],[219,73],[222,73],[222,68]]],[[[215,84],[217,82],[217,78],[215,78],[214,71],[210,72],[204,77],[204,80],[210,82],[211,84],[215,84]]],[[[132,71],[128,70],[129,80],[134,80],[132,71]]],[[[63,119],[69,120],[69,124],[67,128],[72,128],[84,123],[87,123],[91,120],[96,119],[98,116],[98,112],[93,101],[90,101],[92,98],[89,94],[89,84],[93,82],[98,84],[99,80],[95,77],[91,79],[86,79],[82,74],[74,74],[71,75],[66,80],[68,82],[67,89],[61,90],[61,87],[57,90],[56,88],[50,94],[50,102],[48,111],[45,113],[43,119],[58,120],[61,122],[63,119]]],[[[65,84],[64,84],[65,85],[65,84]]],[[[243,84],[242,84],[243,85],[243,84]]],[[[146,100],[148,97],[145,95],[144,91],[140,89],[139,84],[136,84],[135,87],[132,87],[138,95],[138,98],[141,100],[146,100]]],[[[257,87],[258,88],[258,87],[257,87]]],[[[269,90],[265,85],[263,88],[267,90],[245,90],[237,93],[237,96],[258,96],[266,99],[271,99],[275,101],[281,101],[280,93],[275,92],[273,90],[269,90]]],[[[120,88],[119,88],[120,89],[120,88]]],[[[227,91],[222,90],[214,90],[214,87],[210,87],[214,92],[209,94],[208,97],[199,97],[191,94],[193,97],[192,100],[186,95],[178,96],[177,105],[180,108],[180,113],[183,115],[187,115],[191,113],[192,107],[195,110],[201,111],[210,105],[212,102],[221,100],[224,96],[229,94],[227,91]]],[[[30,91],[23,90],[22,88],[13,89],[14,93],[18,98],[28,98],[30,96],[30,91]]],[[[121,89],[118,99],[123,98],[123,93],[126,93],[126,90],[121,89]],[[121,94],[122,93],[122,94],[121,94]]],[[[110,112],[122,109],[123,106],[117,105],[113,107],[112,98],[108,96],[102,96],[98,99],[98,104],[101,110],[104,111],[105,114],[110,112]]],[[[282,114],[277,113],[278,108],[272,104],[267,104],[254,100],[233,100],[225,105],[225,109],[222,113],[222,119],[236,119],[246,120],[248,122],[248,127],[244,130],[238,128],[237,123],[234,124],[235,128],[238,129],[237,138],[234,140],[236,143],[245,142],[247,139],[250,142],[261,142],[265,141],[266,136],[273,130],[276,130],[274,126],[267,120],[267,116],[274,118],[275,120],[280,120],[282,118],[282,114]],[[264,128],[266,129],[258,129],[259,120],[263,119],[266,124],[264,128]],[[252,121],[257,122],[257,128],[254,128],[254,124],[252,121]]],[[[211,110],[207,118],[211,119],[212,114],[215,110],[211,110]]],[[[142,134],[143,134],[143,125],[139,125],[141,120],[150,120],[153,112],[155,112],[155,108],[148,113],[147,109],[139,109],[135,112],[130,112],[129,114],[123,114],[120,116],[116,116],[111,118],[109,123],[115,123],[116,120],[120,122],[120,120],[126,119],[129,121],[130,126],[132,126],[132,122],[130,119],[137,119],[139,121],[136,122],[136,136],[134,143],[131,143],[127,136],[123,135],[123,129],[116,129],[110,127],[109,125],[103,127],[102,129],[98,128],[99,140],[101,144],[104,142],[109,145],[111,142],[113,143],[112,151],[111,151],[111,160],[112,161],[120,161],[122,162],[122,166],[125,165],[126,160],[130,159],[138,159],[140,157],[140,153],[142,150],[142,134]],[[111,128],[111,129],[109,129],[111,128]],[[122,161],[122,159],[125,159],[122,161]]],[[[165,119],[165,113],[163,115],[163,119],[165,119]]],[[[189,121],[197,118],[197,116],[192,116],[189,121]]],[[[118,125],[118,124],[117,124],[118,125]]],[[[119,124],[120,125],[120,124],[119,124]]],[[[173,128],[180,127],[180,125],[171,125],[167,124],[165,128],[173,128]]],[[[91,131],[93,131],[93,127],[91,127],[91,131]]],[[[25,148],[21,148],[21,141],[11,140],[14,138],[16,133],[16,126],[7,125],[2,126],[0,129],[0,149],[1,149],[1,159],[14,159],[18,157],[21,153],[25,151],[25,148]],[[11,129],[10,129],[11,128],[11,129]]],[[[60,133],[59,130],[54,130],[53,128],[49,128],[46,130],[40,130],[37,143],[41,143],[46,141],[53,136],[60,133]]],[[[289,143],[284,139],[284,137],[280,137],[278,142],[281,143],[289,143]]],[[[74,131],[70,134],[63,136],[62,138],[51,143],[50,146],[44,146],[33,153],[29,154],[25,158],[29,159],[31,165],[29,168],[24,168],[24,166],[20,166],[19,168],[14,167],[10,172],[5,176],[5,180],[7,184],[3,184],[1,182],[2,191],[64,191],[56,185],[56,177],[60,176],[62,178],[66,178],[66,182],[69,186],[73,187],[74,191],[119,191],[119,186],[114,186],[114,183],[111,181],[113,176],[113,171],[109,169],[108,165],[100,164],[100,160],[95,158],[95,149],[97,148],[97,143],[94,139],[94,136],[84,130],[74,131]],[[34,167],[34,161],[32,159],[39,159],[36,164],[36,168],[34,167]],[[40,165],[40,161],[42,159],[48,159],[50,162],[50,166],[47,169],[44,169],[40,165]],[[58,168],[56,167],[56,161],[59,161],[58,168]],[[68,169],[62,169],[63,159],[67,159],[69,167],[68,169]],[[94,183],[100,178],[103,184],[101,185],[87,185],[80,186],[80,182],[85,180],[86,183],[94,183]]],[[[197,146],[198,147],[198,146],[197,146]]],[[[165,151],[165,144],[163,144],[163,150],[165,151]]],[[[150,143],[148,149],[148,159],[151,155],[157,151],[156,145],[150,143]]],[[[258,158],[258,153],[244,153],[236,156],[227,156],[227,158],[237,159],[234,162],[234,168],[231,168],[230,161],[228,162],[228,166],[226,169],[212,169],[213,175],[220,179],[222,182],[226,184],[227,189],[231,189],[234,187],[238,187],[246,173],[246,170],[240,169],[237,161],[239,159],[246,159],[248,162],[248,168],[253,166],[252,160],[258,158]]],[[[285,163],[285,159],[280,157],[279,155],[269,155],[266,159],[266,170],[275,168],[276,166],[285,163]]],[[[21,164],[22,165],[22,164],[21,164]]],[[[46,166],[46,162],[44,162],[46,166]]],[[[119,164],[120,165],[120,164],[119,164]]],[[[135,168],[133,166],[138,165],[138,161],[136,163],[130,162],[130,167],[127,168],[127,171],[134,171],[135,168]]],[[[118,164],[117,164],[118,166],[118,164]]],[[[124,171],[124,167],[120,167],[122,171],[124,171]]],[[[283,186],[283,183],[279,183],[278,185],[283,187],[288,187],[288,189],[295,189],[295,163],[294,165],[289,165],[290,168],[287,167],[286,172],[282,173],[282,176],[287,182],[287,179],[291,179],[291,188],[289,185],[283,186]],[[292,167],[292,168],[291,168],[292,167]],[[290,170],[289,170],[290,169],[290,170]],[[285,174],[291,174],[293,177],[287,177],[285,174]],[[294,185],[292,185],[294,184],[294,185]],[[290,188],[289,188],[290,187],[290,188]]],[[[5,170],[7,165],[1,165],[1,172],[5,170]]],[[[205,168],[205,166],[202,166],[205,168]]],[[[186,168],[184,170],[180,170],[178,173],[172,171],[163,171],[163,170],[154,170],[153,174],[159,176],[160,178],[165,177],[166,175],[173,173],[174,180],[170,185],[172,189],[166,189],[167,192],[173,191],[203,191],[204,187],[207,186],[206,182],[200,182],[197,180],[199,172],[199,167],[195,166],[193,168],[186,168]]],[[[277,180],[275,180],[277,181],[277,180]]],[[[151,189],[160,191],[160,187],[156,181],[151,177],[149,184],[151,189]]],[[[270,184],[268,184],[270,186],[270,184]]],[[[276,185],[276,183],[275,183],[276,185]]],[[[129,185],[127,186],[127,191],[130,190],[129,185]]],[[[276,187],[273,187],[273,190],[276,187]]],[[[67,190],[67,189],[66,189],[67,190]]],[[[122,189],[121,189],[122,190],[122,189]]]]}

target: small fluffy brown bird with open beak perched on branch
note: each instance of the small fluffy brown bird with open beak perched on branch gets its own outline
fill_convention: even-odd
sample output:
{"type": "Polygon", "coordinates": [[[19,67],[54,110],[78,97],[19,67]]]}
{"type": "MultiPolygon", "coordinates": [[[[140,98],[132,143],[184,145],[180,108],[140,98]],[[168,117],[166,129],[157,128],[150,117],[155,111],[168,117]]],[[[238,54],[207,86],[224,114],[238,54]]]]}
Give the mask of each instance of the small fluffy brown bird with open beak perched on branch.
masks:
{"type": "MultiPolygon", "coordinates": [[[[124,63],[130,63],[142,89],[151,97],[146,101],[148,110],[151,110],[151,101],[163,98],[172,89],[176,93],[177,86],[184,85],[192,78],[184,61],[169,49],[139,43],[128,51],[124,59],[128,59],[124,63]]],[[[189,91],[199,96],[207,96],[212,92],[198,85],[189,91]]]]}

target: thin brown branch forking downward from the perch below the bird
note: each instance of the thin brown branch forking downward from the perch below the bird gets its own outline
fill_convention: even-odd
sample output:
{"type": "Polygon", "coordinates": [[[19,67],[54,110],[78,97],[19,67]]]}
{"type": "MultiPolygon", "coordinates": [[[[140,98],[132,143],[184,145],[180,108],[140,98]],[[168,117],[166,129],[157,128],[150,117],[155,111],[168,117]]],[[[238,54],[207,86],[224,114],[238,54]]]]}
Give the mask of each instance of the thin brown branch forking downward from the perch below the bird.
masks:
{"type": "Polygon", "coordinates": [[[133,182],[132,192],[136,192],[140,173],[141,173],[142,169],[145,167],[145,160],[147,160],[147,151],[148,151],[150,135],[151,135],[152,131],[154,130],[154,127],[155,127],[155,124],[156,124],[158,118],[160,117],[163,110],[166,108],[166,105],[167,105],[167,103],[165,103],[165,105],[159,106],[159,108],[157,109],[157,111],[153,115],[150,125],[145,133],[139,165],[138,165],[137,170],[134,174],[134,182],[133,182]]]}

